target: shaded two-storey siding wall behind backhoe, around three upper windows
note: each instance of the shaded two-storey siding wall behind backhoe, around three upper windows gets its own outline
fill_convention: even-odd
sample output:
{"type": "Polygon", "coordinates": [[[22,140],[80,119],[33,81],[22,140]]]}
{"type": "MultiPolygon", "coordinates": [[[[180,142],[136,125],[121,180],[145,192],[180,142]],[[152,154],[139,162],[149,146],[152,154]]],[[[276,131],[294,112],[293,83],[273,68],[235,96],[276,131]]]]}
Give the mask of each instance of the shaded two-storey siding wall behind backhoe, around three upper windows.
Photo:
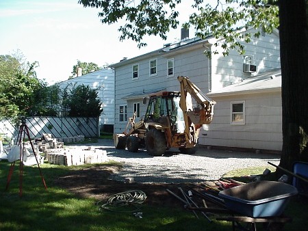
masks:
{"type": "MultiPolygon", "coordinates": [[[[204,92],[208,86],[208,59],[203,53],[204,49],[192,49],[185,53],[166,53],[157,52],[139,62],[132,60],[129,64],[116,68],[116,114],[115,114],[115,133],[123,133],[127,122],[120,122],[118,108],[120,105],[127,105],[127,118],[133,116],[133,103],[140,103],[140,118],[146,112],[146,105],[142,104],[142,98],[123,100],[123,97],[137,92],[155,91],[166,89],[168,91],[179,91],[179,75],[188,76],[204,92]],[[157,58],[157,75],[149,76],[149,60],[157,58]],[[167,60],[174,59],[174,75],[168,77],[167,60]],[[131,66],[139,64],[139,77],[132,79],[131,66]]],[[[136,119],[138,121],[138,119],[136,119]]]]}

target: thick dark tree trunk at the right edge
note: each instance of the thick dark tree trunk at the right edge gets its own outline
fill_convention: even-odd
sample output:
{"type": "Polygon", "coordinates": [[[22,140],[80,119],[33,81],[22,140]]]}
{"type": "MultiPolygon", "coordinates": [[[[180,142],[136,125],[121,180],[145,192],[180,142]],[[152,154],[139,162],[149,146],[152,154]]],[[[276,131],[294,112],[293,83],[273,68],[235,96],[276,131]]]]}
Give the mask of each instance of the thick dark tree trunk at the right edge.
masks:
{"type": "Polygon", "coordinates": [[[305,0],[279,1],[283,149],[281,167],[308,161],[308,29],[305,0]]]}

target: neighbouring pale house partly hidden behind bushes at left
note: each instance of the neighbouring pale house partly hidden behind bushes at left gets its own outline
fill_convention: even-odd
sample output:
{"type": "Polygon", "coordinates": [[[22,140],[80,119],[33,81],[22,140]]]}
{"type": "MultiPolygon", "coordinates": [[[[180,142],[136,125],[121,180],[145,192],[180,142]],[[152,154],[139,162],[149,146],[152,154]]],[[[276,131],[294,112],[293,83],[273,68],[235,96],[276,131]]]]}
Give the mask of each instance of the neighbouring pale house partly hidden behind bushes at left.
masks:
{"type": "Polygon", "coordinates": [[[114,126],[114,69],[103,68],[88,74],[57,83],[60,88],[76,85],[88,85],[98,92],[103,105],[100,116],[100,125],[105,131],[112,131],[114,126]]]}

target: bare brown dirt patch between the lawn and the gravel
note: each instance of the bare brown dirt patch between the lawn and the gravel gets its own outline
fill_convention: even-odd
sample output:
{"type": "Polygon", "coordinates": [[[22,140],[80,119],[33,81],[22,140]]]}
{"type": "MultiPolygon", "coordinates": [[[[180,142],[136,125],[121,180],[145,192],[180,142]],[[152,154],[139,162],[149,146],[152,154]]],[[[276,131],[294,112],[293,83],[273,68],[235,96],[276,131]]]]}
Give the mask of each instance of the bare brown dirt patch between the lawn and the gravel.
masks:
{"type": "Polygon", "coordinates": [[[181,206],[183,202],[170,195],[166,189],[181,195],[178,187],[188,191],[188,187],[196,189],[191,184],[164,184],[164,183],[126,183],[108,179],[110,174],[120,171],[118,167],[90,167],[74,170],[67,176],[55,180],[55,185],[75,193],[81,198],[94,198],[104,200],[111,195],[129,190],[140,190],[146,193],[144,204],[155,206],[181,206]]]}

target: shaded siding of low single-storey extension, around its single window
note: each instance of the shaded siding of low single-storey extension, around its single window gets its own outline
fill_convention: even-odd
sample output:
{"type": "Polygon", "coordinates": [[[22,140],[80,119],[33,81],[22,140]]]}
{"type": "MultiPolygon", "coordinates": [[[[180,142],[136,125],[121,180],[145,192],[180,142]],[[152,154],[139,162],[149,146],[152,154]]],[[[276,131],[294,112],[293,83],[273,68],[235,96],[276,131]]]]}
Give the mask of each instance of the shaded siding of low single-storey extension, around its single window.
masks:
{"type": "Polygon", "coordinates": [[[281,92],[212,97],[217,100],[214,120],[202,130],[200,143],[259,150],[282,148],[281,92]],[[245,124],[231,124],[231,102],[245,100],[245,124]]]}

